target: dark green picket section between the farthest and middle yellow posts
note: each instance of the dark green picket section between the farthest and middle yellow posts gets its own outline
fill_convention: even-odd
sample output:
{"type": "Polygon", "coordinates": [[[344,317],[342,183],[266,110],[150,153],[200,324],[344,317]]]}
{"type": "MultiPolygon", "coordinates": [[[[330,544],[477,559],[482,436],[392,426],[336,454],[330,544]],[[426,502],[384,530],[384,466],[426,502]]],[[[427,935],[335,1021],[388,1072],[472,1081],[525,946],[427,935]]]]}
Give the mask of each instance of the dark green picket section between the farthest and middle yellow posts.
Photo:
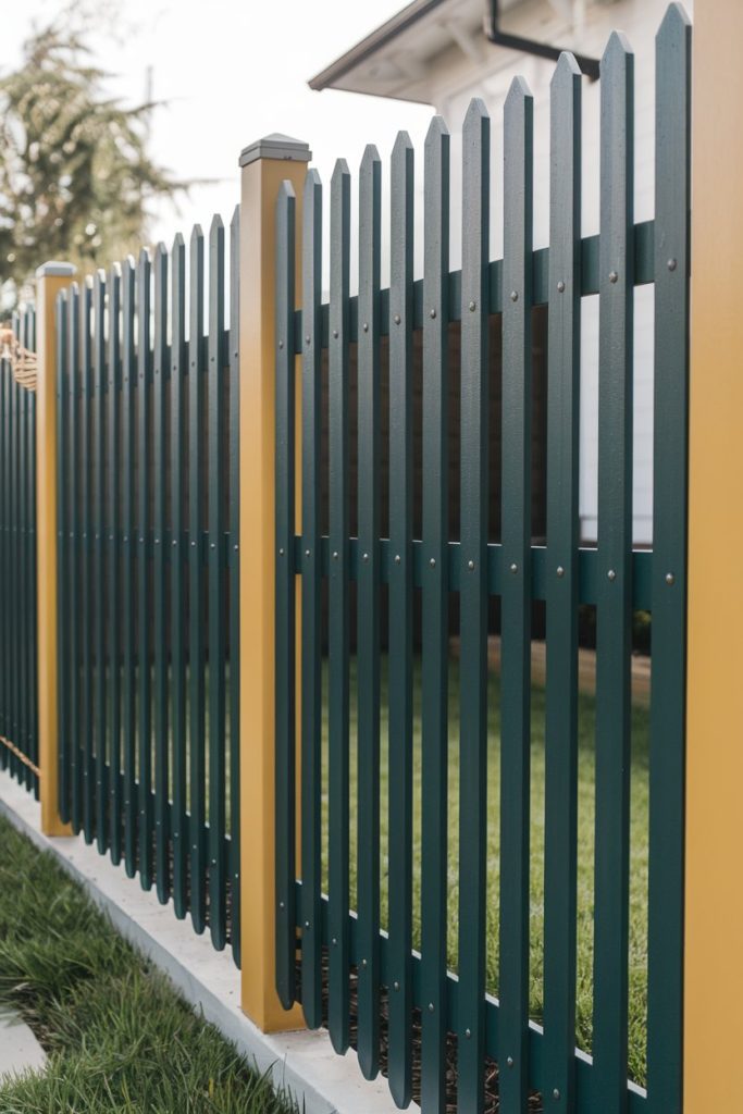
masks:
{"type": "Polygon", "coordinates": [[[61,819],[237,964],[238,219],[57,302],[61,819]]]}

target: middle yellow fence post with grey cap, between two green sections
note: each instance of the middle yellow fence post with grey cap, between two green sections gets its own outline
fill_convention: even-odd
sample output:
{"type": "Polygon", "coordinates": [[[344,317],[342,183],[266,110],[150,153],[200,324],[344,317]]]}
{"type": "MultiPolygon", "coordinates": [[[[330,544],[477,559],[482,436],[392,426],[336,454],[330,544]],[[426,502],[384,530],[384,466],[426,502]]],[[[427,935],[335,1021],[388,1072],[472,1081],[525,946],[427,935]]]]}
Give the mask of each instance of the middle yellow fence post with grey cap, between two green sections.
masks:
{"type": "Polygon", "coordinates": [[[310,158],[306,144],[274,135],[239,159],[242,1007],[265,1033],[303,1025],[275,989],[274,256],[278,187],[292,183],[301,228],[310,158]]]}

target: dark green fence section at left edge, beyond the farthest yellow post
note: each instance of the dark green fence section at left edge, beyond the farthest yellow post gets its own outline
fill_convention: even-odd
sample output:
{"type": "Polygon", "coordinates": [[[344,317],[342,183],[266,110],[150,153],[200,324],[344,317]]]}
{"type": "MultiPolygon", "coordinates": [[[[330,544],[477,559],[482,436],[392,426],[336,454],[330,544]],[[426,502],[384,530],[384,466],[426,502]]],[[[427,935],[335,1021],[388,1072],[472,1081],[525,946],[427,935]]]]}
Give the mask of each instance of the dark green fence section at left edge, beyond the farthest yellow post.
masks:
{"type": "Polygon", "coordinates": [[[0,770],[39,795],[36,314],[0,345],[0,770]]]}

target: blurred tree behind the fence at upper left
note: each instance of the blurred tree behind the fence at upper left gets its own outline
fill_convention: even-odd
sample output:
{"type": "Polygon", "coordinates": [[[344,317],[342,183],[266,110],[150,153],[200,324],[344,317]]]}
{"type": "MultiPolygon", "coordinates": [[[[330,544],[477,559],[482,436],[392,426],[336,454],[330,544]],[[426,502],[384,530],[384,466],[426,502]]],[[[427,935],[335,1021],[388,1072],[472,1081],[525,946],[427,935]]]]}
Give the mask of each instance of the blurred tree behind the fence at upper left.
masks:
{"type": "Polygon", "coordinates": [[[0,75],[0,289],[8,310],[45,260],[82,271],[147,242],[149,206],[186,188],[150,157],[151,102],[126,107],[91,61],[77,3],[35,31],[0,75]]]}

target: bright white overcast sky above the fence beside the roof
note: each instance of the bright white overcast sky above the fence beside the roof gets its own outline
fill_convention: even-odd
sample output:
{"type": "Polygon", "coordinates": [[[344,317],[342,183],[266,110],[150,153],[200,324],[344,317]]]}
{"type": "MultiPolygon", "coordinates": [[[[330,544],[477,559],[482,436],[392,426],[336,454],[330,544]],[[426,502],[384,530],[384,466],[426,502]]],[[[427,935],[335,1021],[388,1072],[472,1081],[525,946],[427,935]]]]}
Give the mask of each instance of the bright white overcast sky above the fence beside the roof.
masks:
{"type": "MultiPolygon", "coordinates": [[[[352,172],[364,145],[385,159],[399,128],[418,145],[430,109],[355,94],[313,92],[307,79],[404,6],[404,0],[127,0],[118,6],[120,41],[95,38],[96,60],[117,75],[114,87],[141,100],[153,67],[156,158],[183,178],[219,179],[195,187],[180,214],[158,214],[154,238],[169,242],[212,214],[227,219],[238,199],[241,149],[272,131],[306,140],[323,182],[343,156],[352,172]]],[[[8,4],[0,68],[20,59],[35,20],[58,12],[59,0],[8,4]]]]}

